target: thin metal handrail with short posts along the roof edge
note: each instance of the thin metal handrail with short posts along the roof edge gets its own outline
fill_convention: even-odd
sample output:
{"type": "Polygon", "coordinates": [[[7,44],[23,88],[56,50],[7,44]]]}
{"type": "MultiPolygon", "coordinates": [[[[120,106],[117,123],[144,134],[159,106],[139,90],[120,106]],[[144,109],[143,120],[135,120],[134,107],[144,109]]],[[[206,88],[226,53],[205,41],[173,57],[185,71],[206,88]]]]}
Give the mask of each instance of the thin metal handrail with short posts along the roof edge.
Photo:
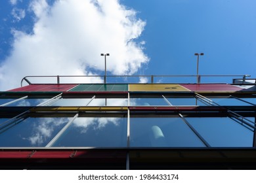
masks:
{"type": "MultiPolygon", "coordinates": [[[[242,77],[241,79],[243,80],[243,83],[246,79],[246,77],[249,77],[250,75],[108,75],[106,76],[106,78],[150,78],[150,83],[154,83],[154,78],[158,78],[158,77],[162,77],[162,78],[190,78],[190,77],[194,77],[194,78],[202,78],[202,77],[242,77]]],[[[104,75],[77,75],[77,76],[72,76],[72,75],[51,75],[51,76],[25,76],[24,78],[22,78],[21,82],[20,82],[20,86],[22,86],[22,83],[24,81],[26,81],[28,84],[32,84],[32,82],[28,79],[28,78],[56,78],[56,84],[60,84],[60,78],[75,78],[75,77],[99,77],[99,78],[104,78],[104,75]]],[[[200,79],[198,80],[200,83],[200,79]]],[[[102,80],[103,82],[103,80],[102,80]]],[[[106,83],[106,82],[105,82],[106,83]]]]}

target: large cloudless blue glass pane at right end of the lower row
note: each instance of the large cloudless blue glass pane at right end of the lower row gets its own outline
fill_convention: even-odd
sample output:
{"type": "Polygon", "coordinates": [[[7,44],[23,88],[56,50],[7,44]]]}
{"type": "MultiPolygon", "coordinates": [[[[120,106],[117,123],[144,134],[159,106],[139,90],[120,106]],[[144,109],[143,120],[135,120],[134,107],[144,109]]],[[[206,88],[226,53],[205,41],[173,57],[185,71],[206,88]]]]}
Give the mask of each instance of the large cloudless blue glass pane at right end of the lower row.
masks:
{"type": "Polygon", "coordinates": [[[230,118],[186,118],[213,147],[251,147],[253,132],[230,118]]]}

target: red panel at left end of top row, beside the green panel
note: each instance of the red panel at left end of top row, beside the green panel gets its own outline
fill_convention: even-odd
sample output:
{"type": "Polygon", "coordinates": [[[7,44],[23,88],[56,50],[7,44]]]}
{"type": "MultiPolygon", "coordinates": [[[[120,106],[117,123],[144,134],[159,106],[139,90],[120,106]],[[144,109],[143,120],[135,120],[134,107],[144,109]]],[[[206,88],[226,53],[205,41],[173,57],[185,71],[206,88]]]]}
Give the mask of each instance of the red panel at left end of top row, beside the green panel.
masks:
{"type": "Polygon", "coordinates": [[[77,84],[31,84],[9,90],[9,92],[65,92],[75,86],[77,86],[77,84]]]}

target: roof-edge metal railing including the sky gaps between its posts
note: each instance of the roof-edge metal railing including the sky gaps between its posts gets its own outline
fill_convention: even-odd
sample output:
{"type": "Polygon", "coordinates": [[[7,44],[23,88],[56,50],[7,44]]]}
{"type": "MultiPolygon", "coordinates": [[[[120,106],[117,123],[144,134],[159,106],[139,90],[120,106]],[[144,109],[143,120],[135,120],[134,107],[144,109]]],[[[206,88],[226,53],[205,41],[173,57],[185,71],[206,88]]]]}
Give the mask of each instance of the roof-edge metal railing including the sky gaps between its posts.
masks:
{"type": "MultiPolygon", "coordinates": [[[[241,77],[239,80],[242,80],[242,84],[245,83],[245,80],[247,80],[247,77],[249,77],[250,75],[109,75],[109,76],[105,76],[105,75],[89,75],[89,76],[68,76],[68,75],[64,75],[64,76],[60,76],[60,75],[56,75],[56,76],[25,76],[24,78],[22,78],[20,85],[22,86],[23,82],[26,81],[28,84],[41,84],[39,82],[32,82],[31,79],[32,78],[51,78],[51,84],[60,84],[60,79],[64,79],[64,78],[97,78],[100,82],[98,83],[106,83],[106,79],[108,78],[108,80],[112,80],[113,82],[113,78],[122,78],[121,81],[119,80],[118,83],[125,83],[125,81],[127,81],[127,79],[129,78],[139,78],[140,79],[144,79],[143,83],[160,83],[163,82],[163,79],[167,79],[167,81],[169,83],[178,83],[178,82],[173,82],[173,78],[183,78],[185,80],[185,83],[195,83],[193,82],[194,78],[196,78],[196,83],[201,83],[202,78],[230,78],[230,77],[241,77]],[[56,82],[53,83],[53,78],[56,82]],[[104,78],[104,79],[102,79],[104,78]],[[193,78],[193,80],[191,80],[191,78],[193,78]],[[156,81],[157,80],[157,81],[156,81]]],[[[234,81],[234,80],[233,80],[234,81]]],[[[66,84],[67,82],[63,82],[62,84],[66,84]]],[[[68,82],[68,83],[81,83],[80,82],[75,82],[75,80],[73,82],[68,82]]],[[[85,83],[89,83],[86,82],[85,83]]],[[[91,83],[91,82],[90,82],[91,83]]],[[[96,83],[96,82],[95,82],[96,83]]],[[[137,81],[138,83],[138,81],[137,81]]],[[[179,82],[182,83],[182,82],[179,82]]],[[[212,83],[212,82],[211,82],[212,83]]],[[[226,82],[227,83],[227,82],[226,82]]],[[[45,84],[45,83],[44,83],[45,84]]]]}

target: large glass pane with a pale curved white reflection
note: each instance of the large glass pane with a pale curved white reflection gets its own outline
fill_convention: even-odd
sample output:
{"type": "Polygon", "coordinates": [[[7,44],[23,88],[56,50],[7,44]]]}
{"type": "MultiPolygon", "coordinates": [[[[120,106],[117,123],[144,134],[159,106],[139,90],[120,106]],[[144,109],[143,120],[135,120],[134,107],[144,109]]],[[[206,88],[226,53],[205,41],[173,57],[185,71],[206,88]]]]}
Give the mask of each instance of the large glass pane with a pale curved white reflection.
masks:
{"type": "Polygon", "coordinates": [[[131,118],[133,147],[203,147],[181,118],[131,118]]]}

